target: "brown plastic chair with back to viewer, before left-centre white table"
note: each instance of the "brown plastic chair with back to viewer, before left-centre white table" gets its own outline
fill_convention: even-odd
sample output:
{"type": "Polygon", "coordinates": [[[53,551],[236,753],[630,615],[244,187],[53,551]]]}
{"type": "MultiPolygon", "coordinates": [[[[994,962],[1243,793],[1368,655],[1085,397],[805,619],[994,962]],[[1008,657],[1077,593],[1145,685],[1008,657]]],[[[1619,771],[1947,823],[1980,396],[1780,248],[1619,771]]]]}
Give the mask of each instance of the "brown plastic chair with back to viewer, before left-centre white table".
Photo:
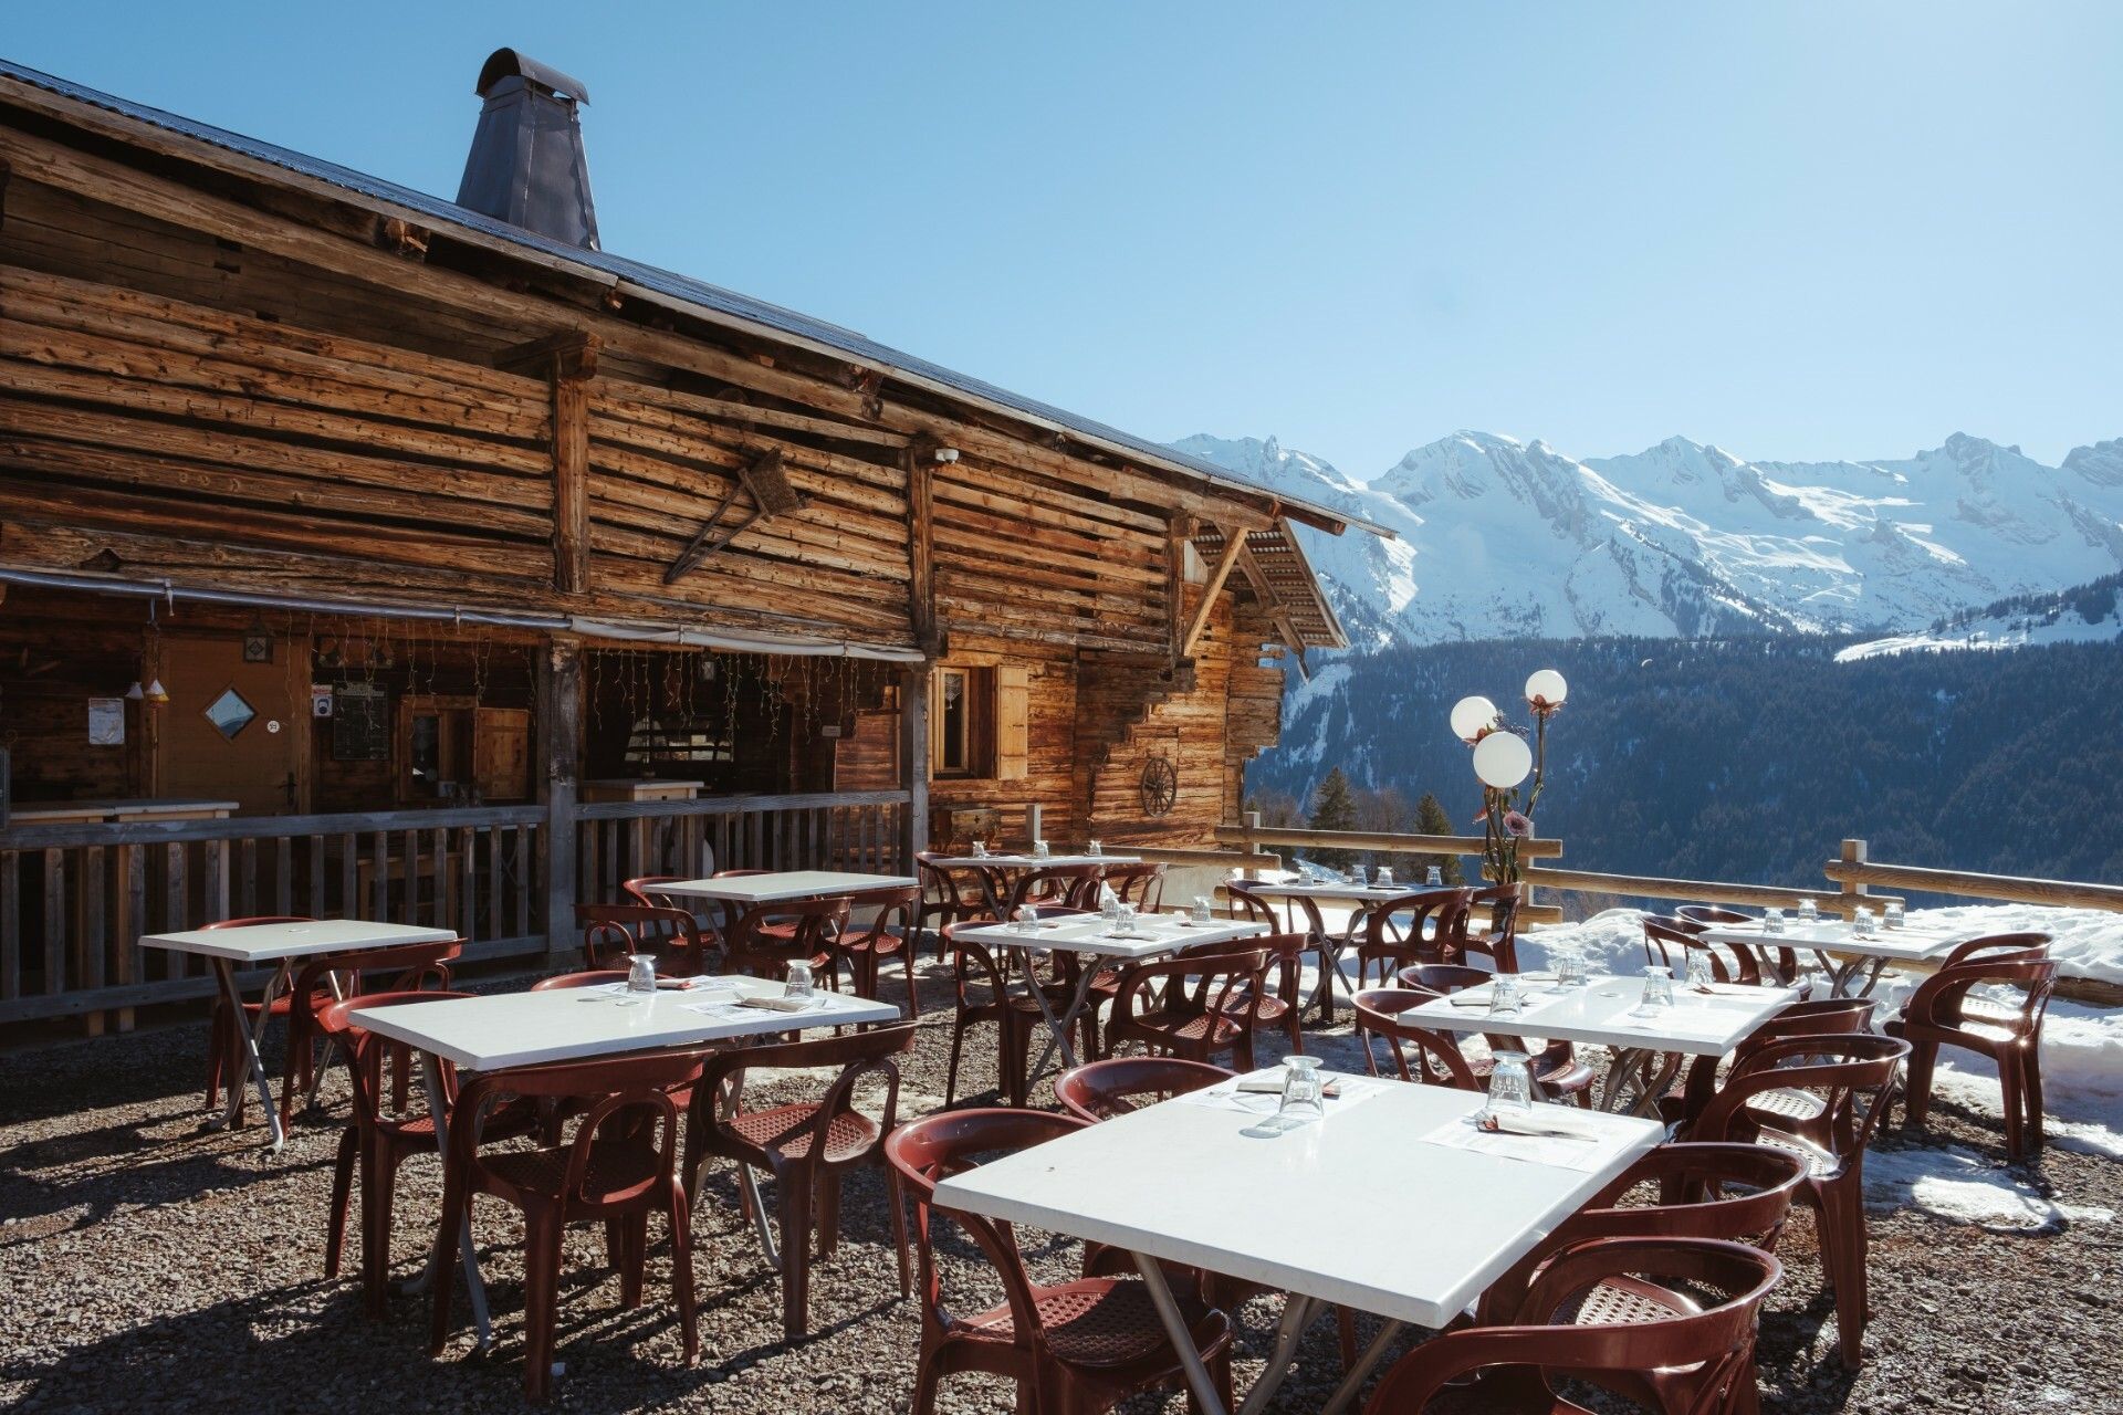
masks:
{"type": "MultiPolygon", "coordinates": [[[[686,1364],[701,1356],[692,1296],[692,1224],[677,1180],[677,1105],[671,1088],[701,1080],[701,1052],[650,1052],[486,1071],[450,1110],[450,1152],[442,1169],[442,1228],[435,1271],[456,1269],[459,1226],[473,1194],[490,1194],[524,1216],[524,1394],[552,1387],[552,1328],[560,1298],[560,1237],[569,1222],[603,1222],[620,1269],[620,1307],[641,1305],[652,1211],[671,1222],[671,1288],[686,1334],[686,1364]],[[573,1139],[482,1150],[486,1114],[507,1101],[588,1101],[573,1139]]],[[[429,1356],[450,1341],[454,1281],[433,1283],[429,1356]]]]}

